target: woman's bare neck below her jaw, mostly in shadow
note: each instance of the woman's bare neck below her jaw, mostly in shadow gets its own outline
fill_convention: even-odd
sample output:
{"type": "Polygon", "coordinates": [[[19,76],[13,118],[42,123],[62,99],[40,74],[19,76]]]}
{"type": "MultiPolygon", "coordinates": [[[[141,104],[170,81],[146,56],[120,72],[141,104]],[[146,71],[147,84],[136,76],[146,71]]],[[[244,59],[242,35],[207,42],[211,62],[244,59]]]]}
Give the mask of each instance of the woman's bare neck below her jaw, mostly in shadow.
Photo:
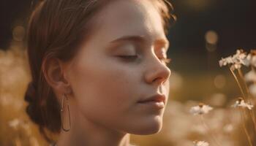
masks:
{"type": "Polygon", "coordinates": [[[129,146],[127,133],[116,131],[86,119],[78,110],[71,112],[71,128],[59,135],[58,146],[129,146]],[[78,113],[75,115],[75,113],[78,113]]]}

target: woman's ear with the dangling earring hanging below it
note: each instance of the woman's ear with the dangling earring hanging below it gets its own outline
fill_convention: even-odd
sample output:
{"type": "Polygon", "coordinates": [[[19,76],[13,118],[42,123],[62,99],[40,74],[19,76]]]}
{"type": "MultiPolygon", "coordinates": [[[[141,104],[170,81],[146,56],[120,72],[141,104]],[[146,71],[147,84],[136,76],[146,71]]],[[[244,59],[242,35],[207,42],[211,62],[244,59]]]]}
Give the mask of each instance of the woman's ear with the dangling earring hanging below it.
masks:
{"type": "Polygon", "coordinates": [[[42,63],[42,72],[45,80],[48,82],[56,94],[69,94],[71,86],[64,74],[64,64],[57,58],[45,59],[42,63]]]}

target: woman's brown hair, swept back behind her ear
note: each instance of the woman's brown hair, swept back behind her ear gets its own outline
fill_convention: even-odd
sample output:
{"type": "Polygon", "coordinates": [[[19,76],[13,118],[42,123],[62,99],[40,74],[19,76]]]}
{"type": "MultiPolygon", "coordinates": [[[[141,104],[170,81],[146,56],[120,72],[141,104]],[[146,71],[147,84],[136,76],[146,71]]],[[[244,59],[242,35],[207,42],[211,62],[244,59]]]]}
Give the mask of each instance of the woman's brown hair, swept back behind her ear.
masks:
{"type": "MultiPolygon", "coordinates": [[[[50,142],[45,130],[59,133],[59,102],[42,73],[42,64],[49,58],[69,61],[78,45],[93,32],[92,18],[109,0],[45,0],[40,1],[29,18],[26,42],[32,80],[26,91],[29,102],[26,112],[37,123],[41,134],[50,142]]],[[[171,4],[157,0],[154,4],[162,15],[165,33],[170,20],[171,4]]],[[[172,18],[172,19],[171,19],[172,18]]]]}

